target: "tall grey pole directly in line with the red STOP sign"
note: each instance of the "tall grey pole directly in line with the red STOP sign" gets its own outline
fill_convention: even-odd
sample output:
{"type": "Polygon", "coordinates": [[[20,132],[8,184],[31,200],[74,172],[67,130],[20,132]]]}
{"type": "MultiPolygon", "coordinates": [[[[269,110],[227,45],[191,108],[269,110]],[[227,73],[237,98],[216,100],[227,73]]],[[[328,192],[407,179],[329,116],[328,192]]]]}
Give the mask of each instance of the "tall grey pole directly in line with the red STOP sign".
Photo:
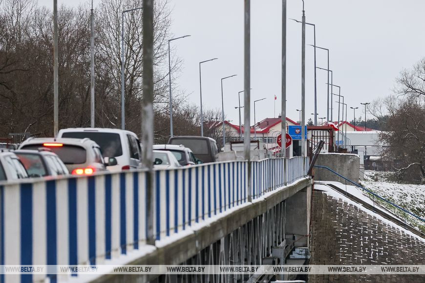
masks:
{"type": "MultiPolygon", "coordinates": [[[[286,137],[286,0],[282,0],[282,114],[280,121],[280,137],[286,137]]],[[[285,146],[280,147],[282,157],[286,157],[285,146]]],[[[286,185],[286,180],[285,180],[286,185]]]]}

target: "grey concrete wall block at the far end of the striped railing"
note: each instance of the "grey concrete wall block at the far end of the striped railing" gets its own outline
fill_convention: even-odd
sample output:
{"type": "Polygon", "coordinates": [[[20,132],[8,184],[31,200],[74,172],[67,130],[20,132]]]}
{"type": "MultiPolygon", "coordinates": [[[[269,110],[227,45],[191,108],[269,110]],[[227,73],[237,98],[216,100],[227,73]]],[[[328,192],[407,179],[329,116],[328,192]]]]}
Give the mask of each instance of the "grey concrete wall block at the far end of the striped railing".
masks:
{"type": "MultiPolygon", "coordinates": [[[[359,182],[360,157],[357,154],[319,154],[315,165],[329,167],[345,178],[348,178],[354,182],[359,182]]],[[[326,169],[315,167],[313,174],[316,181],[336,181],[345,183],[344,179],[326,169]]]]}

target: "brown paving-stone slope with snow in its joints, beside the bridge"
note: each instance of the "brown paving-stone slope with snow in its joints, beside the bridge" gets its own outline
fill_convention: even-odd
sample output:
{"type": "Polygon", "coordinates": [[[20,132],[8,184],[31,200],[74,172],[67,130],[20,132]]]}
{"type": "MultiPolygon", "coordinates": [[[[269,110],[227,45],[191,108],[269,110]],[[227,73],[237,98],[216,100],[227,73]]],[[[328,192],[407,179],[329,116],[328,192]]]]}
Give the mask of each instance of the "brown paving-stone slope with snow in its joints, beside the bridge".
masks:
{"type": "MultiPolygon", "coordinates": [[[[310,264],[425,264],[425,243],[366,213],[361,205],[313,191],[310,264]]],[[[424,275],[310,275],[309,282],[425,282],[424,275]]]]}

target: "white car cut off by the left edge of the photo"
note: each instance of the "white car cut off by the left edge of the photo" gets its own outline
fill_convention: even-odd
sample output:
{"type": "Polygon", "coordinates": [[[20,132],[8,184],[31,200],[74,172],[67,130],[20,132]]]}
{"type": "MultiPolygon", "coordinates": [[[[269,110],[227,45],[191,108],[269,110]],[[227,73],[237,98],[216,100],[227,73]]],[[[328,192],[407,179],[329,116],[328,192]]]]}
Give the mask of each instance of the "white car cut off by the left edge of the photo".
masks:
{"type": "Polygon", "coordinates": [[[0,181],[12,181],[28,178],[25,167],[11,151],[0,151],[0,181]]]}

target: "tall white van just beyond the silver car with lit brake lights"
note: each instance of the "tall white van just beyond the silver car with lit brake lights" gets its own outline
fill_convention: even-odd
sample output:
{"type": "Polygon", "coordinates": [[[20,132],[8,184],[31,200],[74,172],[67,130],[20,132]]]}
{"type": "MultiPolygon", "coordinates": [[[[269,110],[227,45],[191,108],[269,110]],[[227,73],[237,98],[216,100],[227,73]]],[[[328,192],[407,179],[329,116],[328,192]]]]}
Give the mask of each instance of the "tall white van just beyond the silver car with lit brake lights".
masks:
{"type": "Polygon", "coordinates": [[[106,167],[111,172],[141,167],[140,142],[133,132],[109,128],[67,128],[59,130],[58,138],[89,138],[96,142],[104,157],[117,160],[117,165],[106,167]]]}

